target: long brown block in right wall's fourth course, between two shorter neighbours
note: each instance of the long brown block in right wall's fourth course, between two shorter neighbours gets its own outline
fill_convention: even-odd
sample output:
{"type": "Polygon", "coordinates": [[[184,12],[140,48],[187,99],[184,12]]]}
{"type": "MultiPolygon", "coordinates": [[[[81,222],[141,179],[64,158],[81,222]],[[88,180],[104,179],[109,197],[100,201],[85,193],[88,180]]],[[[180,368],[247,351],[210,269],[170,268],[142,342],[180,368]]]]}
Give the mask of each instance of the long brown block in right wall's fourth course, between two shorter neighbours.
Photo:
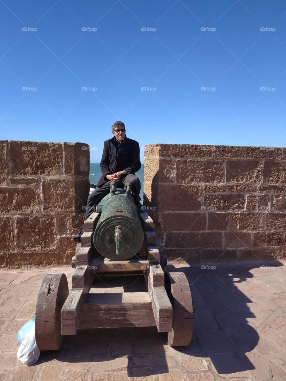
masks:
{"type": "Polygon", "coordinates": [[[209,212],[207,230],[260,230],[264,228],[264,213],[209,212]]]}

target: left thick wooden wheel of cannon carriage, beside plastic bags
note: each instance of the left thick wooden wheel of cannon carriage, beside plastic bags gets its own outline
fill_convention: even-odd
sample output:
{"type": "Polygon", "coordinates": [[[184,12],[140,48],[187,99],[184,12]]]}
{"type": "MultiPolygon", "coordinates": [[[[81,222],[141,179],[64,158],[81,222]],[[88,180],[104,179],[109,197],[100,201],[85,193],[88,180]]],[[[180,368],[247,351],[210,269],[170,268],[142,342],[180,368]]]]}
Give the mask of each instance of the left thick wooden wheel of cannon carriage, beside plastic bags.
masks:
{"type": "Polygon", "coordinates": [[[69,295],[65,274],[48,274],[42,281],[36,307],[35,337],[41,351],[61,349],[61,309],[69,295]]]}

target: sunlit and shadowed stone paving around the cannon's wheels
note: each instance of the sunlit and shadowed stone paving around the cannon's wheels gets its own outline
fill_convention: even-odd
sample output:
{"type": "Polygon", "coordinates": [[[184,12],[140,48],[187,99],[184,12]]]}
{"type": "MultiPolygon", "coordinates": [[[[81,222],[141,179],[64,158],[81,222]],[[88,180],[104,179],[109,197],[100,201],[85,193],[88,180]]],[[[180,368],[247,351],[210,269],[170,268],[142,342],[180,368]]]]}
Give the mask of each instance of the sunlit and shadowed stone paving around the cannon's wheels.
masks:
{"type": "Polygon", "coordinates": [[[169,264],[190,282],[196,309],[190,346],[167,346],[155,327],[81,330],[31,367],[16,357],[16,334],[34,317],[44,275],[65,272],[71,287],[74,269],[2,269],[0,381],[285,381],[285,264],[169,264]]]}

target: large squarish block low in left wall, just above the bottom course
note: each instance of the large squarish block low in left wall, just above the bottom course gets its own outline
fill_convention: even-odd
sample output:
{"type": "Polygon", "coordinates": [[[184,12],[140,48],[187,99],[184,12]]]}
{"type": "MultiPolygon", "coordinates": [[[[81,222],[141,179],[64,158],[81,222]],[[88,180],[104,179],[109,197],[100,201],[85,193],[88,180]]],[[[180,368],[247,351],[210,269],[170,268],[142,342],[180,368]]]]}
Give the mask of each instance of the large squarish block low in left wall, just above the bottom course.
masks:
{"type": "Polygon", "coordinates": [[[55,250],[56,219],[53,216],[16,216],[17,250],[55,250]]]}

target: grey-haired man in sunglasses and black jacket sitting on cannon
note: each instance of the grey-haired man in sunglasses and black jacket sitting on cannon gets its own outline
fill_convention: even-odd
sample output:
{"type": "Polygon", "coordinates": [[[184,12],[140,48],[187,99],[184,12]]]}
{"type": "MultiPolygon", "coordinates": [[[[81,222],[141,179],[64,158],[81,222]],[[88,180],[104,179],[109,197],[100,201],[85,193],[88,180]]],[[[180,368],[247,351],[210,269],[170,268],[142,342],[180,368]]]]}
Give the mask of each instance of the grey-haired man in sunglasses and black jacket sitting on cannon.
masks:
{"type": "MultiPolygon", "coordinates": [[[[111,181],[116,181],[117,186],[122,188],[127,181],[130,181],[134,202],[140,204],[141,184],[135,176],[135,172],[141,168],[139,143],[127,138],[123,122],[114,122],[111,128],[114,137],[104,142],[100,162],[102,176],[95,190],[88,196],[85,219],[96,210],[96,205],[109,193],[111,181]]],[[[84,230],[72,237],[72,240],[80,242],[83,233],[84,230]]]]}

